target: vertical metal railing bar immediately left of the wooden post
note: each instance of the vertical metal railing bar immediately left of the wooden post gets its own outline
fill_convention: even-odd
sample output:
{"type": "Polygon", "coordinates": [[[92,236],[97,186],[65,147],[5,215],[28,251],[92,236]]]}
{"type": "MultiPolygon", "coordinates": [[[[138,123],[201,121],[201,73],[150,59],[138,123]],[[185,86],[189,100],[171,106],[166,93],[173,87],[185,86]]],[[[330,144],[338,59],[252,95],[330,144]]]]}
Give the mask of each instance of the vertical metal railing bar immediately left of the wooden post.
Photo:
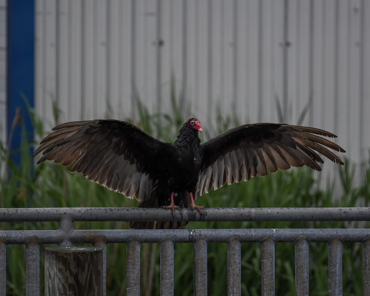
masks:
{"type": "Polygon", "coordinates": [[[40,246],[36,240],[26,245],[26,296],[40,293],[40,246]]]}

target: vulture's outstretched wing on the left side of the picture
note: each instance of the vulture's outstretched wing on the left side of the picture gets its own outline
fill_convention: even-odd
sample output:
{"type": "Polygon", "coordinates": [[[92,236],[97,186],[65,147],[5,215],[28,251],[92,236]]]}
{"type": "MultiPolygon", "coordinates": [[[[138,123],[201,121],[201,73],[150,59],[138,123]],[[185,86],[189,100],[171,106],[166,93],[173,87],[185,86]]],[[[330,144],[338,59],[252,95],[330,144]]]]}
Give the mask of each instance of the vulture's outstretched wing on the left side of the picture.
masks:
{"type": "MultiPolygon", "coordinates": [[[[33,157],[54,160],[89,180],[139,201],[150,197],[160,153],[171,145],[125,121],[92,120],[58,125],[33,157]]],[[[167,151],[168,152],[168,151],[167,151]]]]}

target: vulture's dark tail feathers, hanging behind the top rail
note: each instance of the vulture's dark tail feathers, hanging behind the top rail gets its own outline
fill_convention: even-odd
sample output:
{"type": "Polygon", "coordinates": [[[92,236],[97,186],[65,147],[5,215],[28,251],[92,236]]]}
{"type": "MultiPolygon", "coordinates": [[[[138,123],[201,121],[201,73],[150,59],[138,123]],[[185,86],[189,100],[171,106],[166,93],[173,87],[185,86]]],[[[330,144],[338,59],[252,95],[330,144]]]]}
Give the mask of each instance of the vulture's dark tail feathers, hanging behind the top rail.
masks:
{"type": "MultiPolygon", "coordinates": [[[[141,201],[137,208],[159,208],[158,196],[154,190],[148,200],[141,201]]],[[[182,192],[174,198],[175,205],[181,208],[189,208],[190,196],[188,192],[182,192]]],[[[187,225],[188,221],[131,221],[129,222],[131,228],[135,229],[178,229],[181,226],[187,225]]]]}

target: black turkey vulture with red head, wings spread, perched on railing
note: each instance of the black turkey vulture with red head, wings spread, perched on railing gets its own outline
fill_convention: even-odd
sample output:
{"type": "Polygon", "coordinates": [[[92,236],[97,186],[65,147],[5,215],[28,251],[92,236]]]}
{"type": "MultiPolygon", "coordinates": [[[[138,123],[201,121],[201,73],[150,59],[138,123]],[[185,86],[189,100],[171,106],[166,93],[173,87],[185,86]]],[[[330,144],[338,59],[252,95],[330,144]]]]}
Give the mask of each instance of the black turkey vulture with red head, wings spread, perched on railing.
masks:
{"type": "MultiPolygon", "coordinates": [[[[201,124],[190,118],[174,143],[161,142],[129,122],[118,120],[76,121],[58,125],[41,141],[33,157],[43,152],[38,164],[54,160],[70,166],[86,178],[128,198],[138,207],[192,208],[198,194],[227,184],[247,181],[290,166],[309,166],[326,156],[343,161],[326,147],[345,152],[318,135],[336,137],[322,129],[287,124],[245,124],[201,143],[201,124]]],[[[132,228],[153,228],[155,222],[131,222],[132,228]]],[[[157,222],[156,228],[179,228],[187,222],[157,222]]]]}

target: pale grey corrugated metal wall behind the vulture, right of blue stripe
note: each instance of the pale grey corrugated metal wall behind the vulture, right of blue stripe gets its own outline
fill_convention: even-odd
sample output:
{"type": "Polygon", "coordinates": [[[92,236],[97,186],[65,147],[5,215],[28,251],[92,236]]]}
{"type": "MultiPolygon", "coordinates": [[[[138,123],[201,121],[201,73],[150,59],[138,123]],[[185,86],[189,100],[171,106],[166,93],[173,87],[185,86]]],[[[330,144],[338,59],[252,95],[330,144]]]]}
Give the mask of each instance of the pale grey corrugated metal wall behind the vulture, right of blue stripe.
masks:
{"type": "Polygon", "coordinates": [[[302,124],[339,134],[355,161],[370,147],[368,1],[37,0],[35,13],[49,128],[52,99],[60,121],[134,117],[135,92],[169,112],[173,74],[206,128],[217,108],[278,122],[278,100],[291,124],[309,106],[302,124]]]}

